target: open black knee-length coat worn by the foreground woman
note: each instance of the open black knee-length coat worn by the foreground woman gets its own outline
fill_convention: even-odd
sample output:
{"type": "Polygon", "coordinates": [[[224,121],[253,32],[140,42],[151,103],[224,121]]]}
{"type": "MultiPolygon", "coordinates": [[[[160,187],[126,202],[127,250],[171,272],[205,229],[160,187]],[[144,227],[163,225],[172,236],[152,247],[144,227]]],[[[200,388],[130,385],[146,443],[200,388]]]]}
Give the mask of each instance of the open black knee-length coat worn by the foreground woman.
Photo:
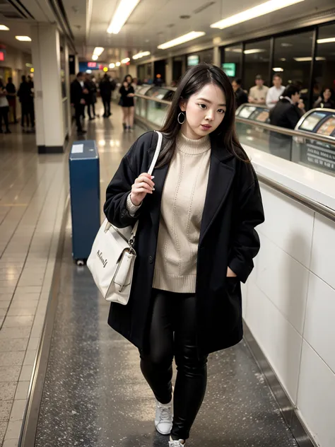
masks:
{"type": "MultiPolygon", "coordinates": [[[[112,303],[108,323],[144,350],[148,348],[160,202],[169,166],[154,170],[155,191],[143,200],[139,214],[131,217],[126,204],[134,180],[148,172],[157,140],[155,132],[147,132],[131,146],[107,187],[104,206],[108,221],[119,228],[134,226],[139,219],[129,303],[112,303]]],[[[252,258],[259,251],[254,227],[263,221],[259,183],[252,165],[212,140],[196,267],[197,342],[201,354],[231,347],[242,339],[240,281],[245,282],[254,267],[252,258]],[[237,278],[226,278],[228,266],[237,278]]]]}

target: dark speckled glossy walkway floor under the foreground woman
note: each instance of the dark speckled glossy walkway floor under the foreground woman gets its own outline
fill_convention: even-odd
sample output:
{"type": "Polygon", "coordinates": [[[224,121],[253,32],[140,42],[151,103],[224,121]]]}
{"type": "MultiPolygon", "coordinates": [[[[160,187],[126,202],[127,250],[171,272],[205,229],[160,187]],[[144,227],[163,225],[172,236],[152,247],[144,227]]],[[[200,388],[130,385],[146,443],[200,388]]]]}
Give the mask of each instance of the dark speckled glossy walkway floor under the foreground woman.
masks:
{"type": "MultiPolygon", "coordinates": [[[[111,120],[90,123],[88,134],[98,142],[102,201],[120,159],[143,132],[124,134],[113,112],[111,120]]],[[[167,446],[154,429],[155,402],[139,354],[108,327],[108,310],[88,269],[72,262],[69,220],[36,447],[167,446]]],[[[211,355],[208,390],[187,445],[297,446],[245,344],[211,355]]]]}

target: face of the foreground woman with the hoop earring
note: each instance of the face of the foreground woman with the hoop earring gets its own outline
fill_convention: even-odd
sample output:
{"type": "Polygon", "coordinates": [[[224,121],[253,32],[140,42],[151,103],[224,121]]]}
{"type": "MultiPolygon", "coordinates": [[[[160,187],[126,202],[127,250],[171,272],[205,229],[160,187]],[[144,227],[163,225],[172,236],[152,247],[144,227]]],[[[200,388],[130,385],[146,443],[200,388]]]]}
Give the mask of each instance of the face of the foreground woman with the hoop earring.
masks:
{"type": "Polygon", "coordinates": [[[180,108],[186,119],[182,124],[182,133],[190,139],[199,139],[211,134],[218,128],[225,116],[225,93],[216,84],[208,83],[187,102],[181,102],[180,108]]]}

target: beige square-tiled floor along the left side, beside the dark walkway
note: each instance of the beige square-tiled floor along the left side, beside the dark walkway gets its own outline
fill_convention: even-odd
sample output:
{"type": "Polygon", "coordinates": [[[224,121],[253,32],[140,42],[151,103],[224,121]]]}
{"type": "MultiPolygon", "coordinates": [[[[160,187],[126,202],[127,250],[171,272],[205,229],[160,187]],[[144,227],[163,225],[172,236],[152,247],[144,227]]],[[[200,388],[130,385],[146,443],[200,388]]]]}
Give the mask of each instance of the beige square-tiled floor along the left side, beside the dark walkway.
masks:
{"type": "Polygon", "coordinates": [[[35,135],[0,134],[0,446],[16,446],[45,320],[68,175],[35,135]],[[3,443],[4,441],[4,443],[3,443]]]}

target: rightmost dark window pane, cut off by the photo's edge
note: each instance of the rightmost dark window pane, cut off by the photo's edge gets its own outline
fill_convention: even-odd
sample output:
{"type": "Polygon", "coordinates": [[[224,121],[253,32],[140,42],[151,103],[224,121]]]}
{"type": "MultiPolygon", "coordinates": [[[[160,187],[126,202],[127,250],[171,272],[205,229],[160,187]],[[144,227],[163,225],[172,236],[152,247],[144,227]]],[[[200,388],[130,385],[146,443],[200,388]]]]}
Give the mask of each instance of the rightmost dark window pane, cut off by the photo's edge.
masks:
{"type": "Polygon", "coordinates": [[[313,104],[315,107],[335,108],[334,88],[335,25],[320,26],[313,79],[313,104]]]}

